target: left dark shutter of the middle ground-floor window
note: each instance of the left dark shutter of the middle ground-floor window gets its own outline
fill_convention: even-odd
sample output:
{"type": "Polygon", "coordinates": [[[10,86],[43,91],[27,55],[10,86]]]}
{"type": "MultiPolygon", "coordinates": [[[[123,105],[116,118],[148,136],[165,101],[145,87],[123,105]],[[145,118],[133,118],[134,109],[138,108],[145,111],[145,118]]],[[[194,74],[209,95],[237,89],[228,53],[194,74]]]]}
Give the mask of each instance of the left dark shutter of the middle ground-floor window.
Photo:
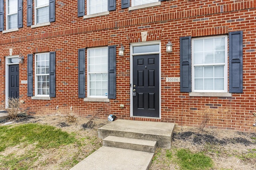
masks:
{"type": "Polygon", "coordinates": [[[78,49],[78,98],[85,98],[85,49],[78,49]]]}

